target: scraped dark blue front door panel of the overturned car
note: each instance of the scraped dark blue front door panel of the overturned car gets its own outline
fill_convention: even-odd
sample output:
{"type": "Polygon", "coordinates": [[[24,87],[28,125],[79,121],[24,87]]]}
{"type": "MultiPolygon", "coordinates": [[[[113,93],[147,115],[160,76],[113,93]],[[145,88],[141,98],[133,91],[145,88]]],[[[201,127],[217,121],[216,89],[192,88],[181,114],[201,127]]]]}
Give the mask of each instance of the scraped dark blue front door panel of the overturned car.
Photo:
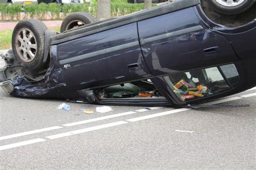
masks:
{"type": "Polygon", "coordinates": [[[62,76],[80,89],[146,79],[137,23],[91,34],[57,46],[62,76]]]}

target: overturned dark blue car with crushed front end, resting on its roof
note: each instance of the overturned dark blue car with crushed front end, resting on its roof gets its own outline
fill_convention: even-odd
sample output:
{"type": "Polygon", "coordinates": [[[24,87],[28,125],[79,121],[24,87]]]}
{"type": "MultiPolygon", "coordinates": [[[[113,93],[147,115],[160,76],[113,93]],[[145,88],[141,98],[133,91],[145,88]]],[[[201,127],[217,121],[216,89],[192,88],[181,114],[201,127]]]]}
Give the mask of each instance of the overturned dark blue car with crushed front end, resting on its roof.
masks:
{"type": "Polygon", "coordinates": [[[84,16],[84,22],[64,20],[62,33],[39,20],[19,22],[12,49],[2,54],[0,86],[6,93],[96,104],[186,105],[256,85],[256,19],[223,26],[206,16],[197,0],[101,22],[84,16]]]}

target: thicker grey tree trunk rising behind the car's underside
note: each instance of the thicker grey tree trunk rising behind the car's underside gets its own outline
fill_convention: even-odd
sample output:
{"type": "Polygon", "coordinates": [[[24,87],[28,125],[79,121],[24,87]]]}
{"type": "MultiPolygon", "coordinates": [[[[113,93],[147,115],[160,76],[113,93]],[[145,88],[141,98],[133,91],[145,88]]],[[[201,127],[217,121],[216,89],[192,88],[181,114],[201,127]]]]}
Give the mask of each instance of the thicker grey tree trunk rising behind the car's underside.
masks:
{"type": "Polygon", "coordinates": [[[97,1],[97,21],[111,17],[110,0],[97,1]]]}

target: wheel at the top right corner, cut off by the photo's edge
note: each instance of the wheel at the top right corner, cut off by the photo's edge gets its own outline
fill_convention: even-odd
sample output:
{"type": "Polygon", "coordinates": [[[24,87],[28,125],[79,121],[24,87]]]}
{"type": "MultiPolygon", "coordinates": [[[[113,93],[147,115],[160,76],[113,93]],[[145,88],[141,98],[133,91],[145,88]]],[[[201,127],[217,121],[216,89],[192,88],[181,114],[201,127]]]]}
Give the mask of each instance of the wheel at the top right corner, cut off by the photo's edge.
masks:
{"type": "Polygon", "coordinates": [[[236,0],[228,3],[227,0],[207,0],[213,9],[225,15],[237,15],[249,9],[255,0],[236,0]]]}

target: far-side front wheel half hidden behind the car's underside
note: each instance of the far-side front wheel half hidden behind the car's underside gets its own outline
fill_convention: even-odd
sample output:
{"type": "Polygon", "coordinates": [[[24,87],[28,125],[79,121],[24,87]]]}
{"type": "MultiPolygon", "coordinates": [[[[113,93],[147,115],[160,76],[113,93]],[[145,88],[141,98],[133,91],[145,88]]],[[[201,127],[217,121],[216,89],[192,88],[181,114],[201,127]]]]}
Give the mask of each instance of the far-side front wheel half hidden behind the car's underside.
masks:
{"type": "Polygon", "coordinates": [[[64,18],[62,25],[60,26],[60,32],[73,29],[75,27],[95,23],[96,19],[87,12],[71,13],[64,18]]]}

